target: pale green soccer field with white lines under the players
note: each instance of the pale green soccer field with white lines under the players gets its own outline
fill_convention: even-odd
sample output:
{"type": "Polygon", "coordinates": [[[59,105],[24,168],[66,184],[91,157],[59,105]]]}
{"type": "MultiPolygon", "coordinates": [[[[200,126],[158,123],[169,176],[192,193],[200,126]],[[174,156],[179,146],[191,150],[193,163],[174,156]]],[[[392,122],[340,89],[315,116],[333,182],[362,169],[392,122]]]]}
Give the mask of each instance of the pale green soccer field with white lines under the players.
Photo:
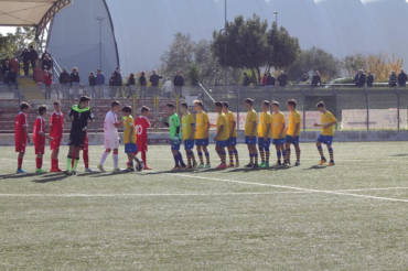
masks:
{"type": "Polygon", "coordinates": [[[3,147],[0,270],[408,270],[408,143],[336,143],[334,167],[301,148],[299,167],[169,173],[150,147],[154,171],[67,177],[15,176],[3,147]]]}

